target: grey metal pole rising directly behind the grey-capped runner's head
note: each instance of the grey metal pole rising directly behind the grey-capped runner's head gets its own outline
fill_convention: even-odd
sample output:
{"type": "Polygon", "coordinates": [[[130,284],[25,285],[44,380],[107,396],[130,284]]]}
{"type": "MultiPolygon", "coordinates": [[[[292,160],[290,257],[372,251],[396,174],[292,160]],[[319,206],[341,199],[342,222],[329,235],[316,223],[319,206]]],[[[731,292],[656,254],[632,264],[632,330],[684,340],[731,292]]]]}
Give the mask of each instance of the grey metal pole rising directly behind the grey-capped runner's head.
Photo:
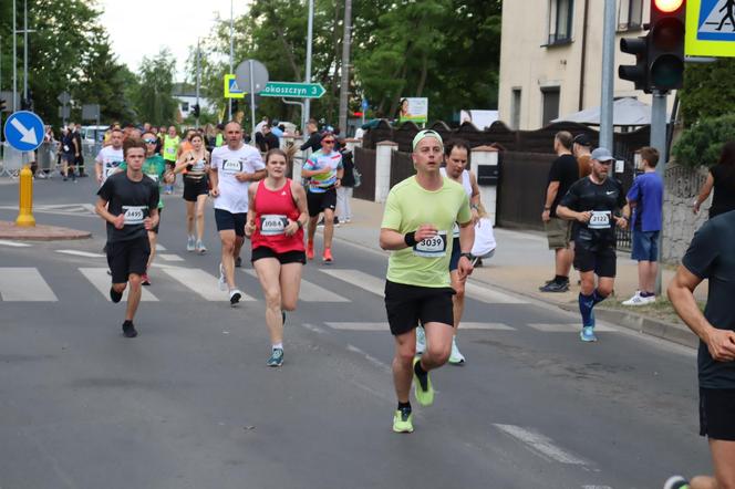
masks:
{"type": "Polygon", "coordinates": [[[612,102],[615,64],[615,0],[604,0],[602,32],[602,95],[600,100],[600,146],[613,152],[612,102]]]}

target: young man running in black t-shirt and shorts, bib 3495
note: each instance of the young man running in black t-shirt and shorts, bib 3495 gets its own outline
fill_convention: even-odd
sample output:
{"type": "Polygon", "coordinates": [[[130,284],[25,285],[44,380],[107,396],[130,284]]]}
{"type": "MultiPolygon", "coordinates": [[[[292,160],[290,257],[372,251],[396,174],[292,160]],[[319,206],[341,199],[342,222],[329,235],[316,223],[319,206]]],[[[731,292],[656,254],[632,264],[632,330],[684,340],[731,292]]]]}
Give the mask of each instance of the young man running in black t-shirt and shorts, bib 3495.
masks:
{"type": "Polygon", "coordinates": [[[158,225],[158,184],[143,175],[145,144],[128,138],[123,144],[127,169],[108,177],[97,191],[96,212],[107,221],[107,263],[112,271],[110,299],[120,302],[127,283],[123,334],[137,336],[133,318],[141,302],[142,279],[151,254],[148,232],[158,225]]]}

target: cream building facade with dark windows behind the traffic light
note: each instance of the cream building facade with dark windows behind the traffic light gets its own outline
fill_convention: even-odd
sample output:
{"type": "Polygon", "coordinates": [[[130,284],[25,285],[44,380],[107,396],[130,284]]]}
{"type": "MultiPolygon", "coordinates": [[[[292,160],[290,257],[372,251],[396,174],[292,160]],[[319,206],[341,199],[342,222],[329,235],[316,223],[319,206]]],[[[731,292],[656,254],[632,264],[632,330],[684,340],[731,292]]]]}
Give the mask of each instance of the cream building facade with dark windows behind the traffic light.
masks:
{"type": "MultiPolygon", "coordinates": [[[[536,129],[557,117],[600,105],[605,0],[505,0],[498,110],[514,129],[536,129]]],[[[651,104],[651,95],[618,77],[635,64],[620,39],[645,34],[649,0],[615,0],[614,96],[651,104]]],[[[670,107],[673,97],[669,97],[670,107]]]]}

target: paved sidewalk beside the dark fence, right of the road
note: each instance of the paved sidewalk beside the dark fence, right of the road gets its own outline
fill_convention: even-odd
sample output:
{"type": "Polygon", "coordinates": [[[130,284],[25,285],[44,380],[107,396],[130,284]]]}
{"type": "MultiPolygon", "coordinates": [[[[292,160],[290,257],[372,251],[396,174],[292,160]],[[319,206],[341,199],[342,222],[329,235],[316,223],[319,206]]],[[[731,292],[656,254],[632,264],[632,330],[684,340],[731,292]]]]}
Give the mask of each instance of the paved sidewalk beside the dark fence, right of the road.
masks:
{"type": "MultiPolygon", "coordinates": [[[[335,229],[335,238],[382,251],[379,246],[379,235],[383,205],[352,199],[352,215],[349,225],[335,229]]],[[[486,260],[483,267],[475,269],[472,281],[505,289],[568,311],[578,310],[579,285],[574,271],[569,292],[542,293],[538,290],[553,275],[553,251],[548,249],[544,233],[496,228],[495,238],[498,243],[495,256],[486,260]]],[[[615,295],[596,308],[598,318],[680,344],[695,346],[696,336],[673,313],[667,301],[660,300],[655,305],[638,308],[621,304],[638,289],[638,266],[627,252],[619,252],[618,257],[615,295]]],[[[664,289],[673,275],[673,268],[664,269],[664,289]]],[[[696,299],[706,301],[706,283],[703,283],[696,290],[696,299]]]]}

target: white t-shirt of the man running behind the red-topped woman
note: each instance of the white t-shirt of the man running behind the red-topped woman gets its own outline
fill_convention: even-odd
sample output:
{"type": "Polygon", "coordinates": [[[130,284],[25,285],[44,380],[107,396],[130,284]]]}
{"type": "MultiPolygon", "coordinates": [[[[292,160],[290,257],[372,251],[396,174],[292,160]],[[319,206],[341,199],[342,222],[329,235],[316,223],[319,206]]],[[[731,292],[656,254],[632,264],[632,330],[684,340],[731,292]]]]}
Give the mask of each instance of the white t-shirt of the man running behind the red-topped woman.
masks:
{"type": "Polygon", "coordinates": [[[211,169],[217,171],[219,197],[215,199],[215,209],[232,214],[248,211],[248,185],[250,181],[238,181],[236,174],[241,171],[253,174],[266,168],[260,152],[244,144],[232,150],[229,146],[219,146],[211,152],[211,169]]]}

